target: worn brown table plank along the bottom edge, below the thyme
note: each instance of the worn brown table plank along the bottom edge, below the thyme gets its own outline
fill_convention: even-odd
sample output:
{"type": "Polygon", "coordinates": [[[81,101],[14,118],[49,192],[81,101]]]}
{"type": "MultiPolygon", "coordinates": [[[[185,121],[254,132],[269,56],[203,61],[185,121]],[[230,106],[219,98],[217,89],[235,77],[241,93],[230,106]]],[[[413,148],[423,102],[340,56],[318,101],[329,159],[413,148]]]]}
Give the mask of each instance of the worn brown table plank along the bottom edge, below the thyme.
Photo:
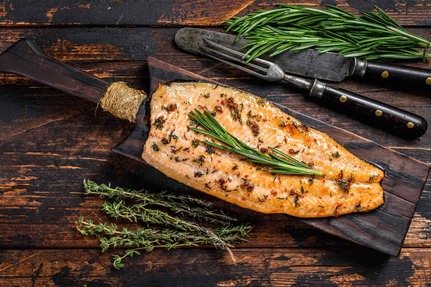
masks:
{"type": "Polygon", "coordinates": [[[123,259],[124,249],[0,251],[2,286],[425,286],[431,250],[406,248],[400,258],[369,249],[155,249],[123,259]],[[169,260],[166,260],[169,258],[169,260]]]}

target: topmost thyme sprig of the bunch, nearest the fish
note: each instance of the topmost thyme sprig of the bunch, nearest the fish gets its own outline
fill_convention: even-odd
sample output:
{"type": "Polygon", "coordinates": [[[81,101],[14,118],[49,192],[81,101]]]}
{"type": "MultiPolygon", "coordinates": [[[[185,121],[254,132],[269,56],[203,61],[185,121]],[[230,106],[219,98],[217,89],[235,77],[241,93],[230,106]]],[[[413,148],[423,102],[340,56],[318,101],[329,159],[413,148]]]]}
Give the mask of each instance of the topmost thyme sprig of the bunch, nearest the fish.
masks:
{"type": "Polygon", "coordinates": [[[119,186],[112,188],[110,184],[97,184],[91,180],[84,180],[84,194],[94,194],[98,196],[106,196],[108,198],[116,197],[121,199],[134,199],[142,201],[142,206],[159,205],[169,208],[174,213],[181,215],[187,214],[192,218],[198,218],[211,223],[229,225],[230,221],[236,221],[232,216],[225,214],[221,210],[209,209],[212,206],[211,202],[202,199],[197,199],[189,195],[175,195],[166,191],[154,193],[148,190],[131,190],[123,189],[119,186]],[[200,205],[191,206],[190,204],[200,205]]]}

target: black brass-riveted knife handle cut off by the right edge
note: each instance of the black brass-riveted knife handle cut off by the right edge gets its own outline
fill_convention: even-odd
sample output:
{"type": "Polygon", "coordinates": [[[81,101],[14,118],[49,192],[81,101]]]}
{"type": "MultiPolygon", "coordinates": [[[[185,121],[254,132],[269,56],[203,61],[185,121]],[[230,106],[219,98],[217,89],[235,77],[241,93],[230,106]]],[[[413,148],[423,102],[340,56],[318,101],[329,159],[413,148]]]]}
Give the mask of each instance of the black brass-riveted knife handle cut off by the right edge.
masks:
{"type": "Polygon", "coordinates": [[[431,70],[368,60],[362,76],[370,82],[431,91],[431,70]]]}

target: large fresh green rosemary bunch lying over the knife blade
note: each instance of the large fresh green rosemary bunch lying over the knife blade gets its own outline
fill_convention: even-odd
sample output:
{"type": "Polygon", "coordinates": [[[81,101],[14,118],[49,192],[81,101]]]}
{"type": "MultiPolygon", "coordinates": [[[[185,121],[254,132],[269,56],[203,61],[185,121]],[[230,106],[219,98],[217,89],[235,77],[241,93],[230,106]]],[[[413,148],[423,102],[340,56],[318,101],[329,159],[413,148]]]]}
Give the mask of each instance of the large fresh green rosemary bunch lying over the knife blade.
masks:
{"type": "Polygon", "coordinates": [[[426,53],[430,41],[407,32],[377,6],[378,13],[364,11],[359,18],[332,5],[316,9],[277,4],[275,9],[225,20],[227,31],[237,32],[237,39],[252,39],[241,48],[249,48],[243,57],[250,55],[247,62],[273,48],[270,57],[307,48],[366,60],[422,58],[425,62],[431,57],[426,53]]]}

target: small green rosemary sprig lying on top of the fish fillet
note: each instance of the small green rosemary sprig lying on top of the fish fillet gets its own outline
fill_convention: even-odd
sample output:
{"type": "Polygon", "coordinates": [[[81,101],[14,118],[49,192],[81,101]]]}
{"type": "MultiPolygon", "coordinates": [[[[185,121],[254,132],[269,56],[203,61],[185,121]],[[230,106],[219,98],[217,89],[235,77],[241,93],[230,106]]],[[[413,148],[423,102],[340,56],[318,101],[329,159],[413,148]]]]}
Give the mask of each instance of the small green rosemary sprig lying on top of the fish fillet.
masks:
{"type": "Polygon", "coordinates": [[[225,128],[213,117],[209,112],[204,110],[206,117],[197,109],[194,112],[190,112],[188,117],[202,125],[206,130],[191,128],[195,132],[203,133],[204,135],[210,136],[214,139],[218,139],[225,145],[219,145],[215,142],[203,141],[208,146],[220,148],[224,151],[241,155],[244,157],[243,161],[251,161],[256,164],[262,164],[266,168],[266,172],[270,173],[283,173],[283,174],[312,174],[312,175],[323,175],[323,173],[313,170],[311,167],[303,164],[300,161],[286,155],[276,148],[268,147],[274,153],[265,155],[260,151],[256,151],[254,148],[250,148],[244,142],[241,142],[231,133],[227,132],[225,128]],[[276,155],[283,156],[284,158],[276,155]]]}

